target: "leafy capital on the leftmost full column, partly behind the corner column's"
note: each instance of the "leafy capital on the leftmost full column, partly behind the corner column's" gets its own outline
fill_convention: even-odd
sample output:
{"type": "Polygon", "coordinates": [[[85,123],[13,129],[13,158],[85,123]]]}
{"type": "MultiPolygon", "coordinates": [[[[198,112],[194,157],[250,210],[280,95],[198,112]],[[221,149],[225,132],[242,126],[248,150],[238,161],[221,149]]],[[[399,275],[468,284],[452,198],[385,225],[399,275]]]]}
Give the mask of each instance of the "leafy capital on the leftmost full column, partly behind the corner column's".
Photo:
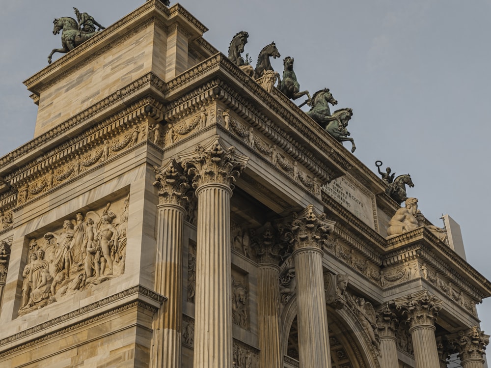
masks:
{"type": "Polygon", "coordinates": [[[155,168],[155,185],[159,189],[159,204],[184,206],[188,201],[186,193],[190,189],[188,178],[180,166],[171,159],[161,168],[155,168]]]}

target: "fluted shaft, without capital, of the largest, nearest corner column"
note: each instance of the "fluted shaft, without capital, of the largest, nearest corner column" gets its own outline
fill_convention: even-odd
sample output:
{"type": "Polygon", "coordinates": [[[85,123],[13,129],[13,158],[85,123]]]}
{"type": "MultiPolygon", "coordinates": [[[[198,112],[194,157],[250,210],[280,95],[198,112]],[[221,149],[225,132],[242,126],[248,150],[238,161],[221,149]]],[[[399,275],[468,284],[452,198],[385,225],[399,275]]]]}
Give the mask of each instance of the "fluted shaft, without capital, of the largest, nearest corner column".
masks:
{"type": "Polygon", "coordinates": [[[232,367],[230,196],[223,184],[196,190],[195,368],[232,367]]]}

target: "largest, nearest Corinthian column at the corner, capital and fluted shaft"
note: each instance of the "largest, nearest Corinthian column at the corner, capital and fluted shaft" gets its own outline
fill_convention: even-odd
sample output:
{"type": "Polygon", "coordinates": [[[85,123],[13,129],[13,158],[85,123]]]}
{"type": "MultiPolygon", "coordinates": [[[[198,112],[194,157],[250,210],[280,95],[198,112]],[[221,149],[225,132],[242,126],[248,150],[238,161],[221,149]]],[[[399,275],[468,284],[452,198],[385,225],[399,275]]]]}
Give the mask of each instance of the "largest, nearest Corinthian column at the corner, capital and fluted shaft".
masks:
{"type": "Polygon", "coordinates": [[[230,197],[247,157],[222,148],[218,136],[180,157],[198,198],[195,368],[232,367],[230,197]]]}

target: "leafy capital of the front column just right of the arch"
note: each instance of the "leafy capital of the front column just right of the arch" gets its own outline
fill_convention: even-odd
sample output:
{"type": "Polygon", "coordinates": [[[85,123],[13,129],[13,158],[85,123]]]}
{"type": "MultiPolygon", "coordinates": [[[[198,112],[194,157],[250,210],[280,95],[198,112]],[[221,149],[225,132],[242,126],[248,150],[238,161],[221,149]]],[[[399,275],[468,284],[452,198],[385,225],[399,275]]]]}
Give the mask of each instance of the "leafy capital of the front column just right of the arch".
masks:
{"type": "Polygon", "coordinates": [[[396,309],[408,319],[410,328],[433,326],[442,305],[442,301],[431,295],[428,290],[397,298],[394,302],[396,309]]]}

